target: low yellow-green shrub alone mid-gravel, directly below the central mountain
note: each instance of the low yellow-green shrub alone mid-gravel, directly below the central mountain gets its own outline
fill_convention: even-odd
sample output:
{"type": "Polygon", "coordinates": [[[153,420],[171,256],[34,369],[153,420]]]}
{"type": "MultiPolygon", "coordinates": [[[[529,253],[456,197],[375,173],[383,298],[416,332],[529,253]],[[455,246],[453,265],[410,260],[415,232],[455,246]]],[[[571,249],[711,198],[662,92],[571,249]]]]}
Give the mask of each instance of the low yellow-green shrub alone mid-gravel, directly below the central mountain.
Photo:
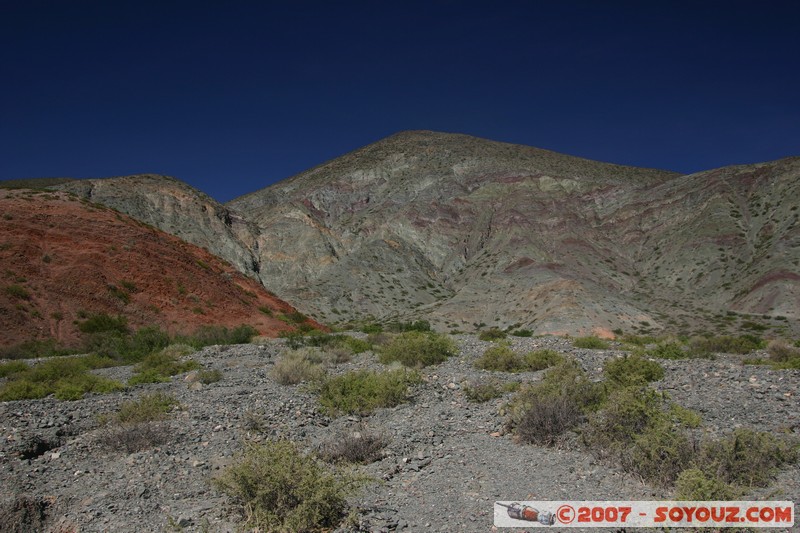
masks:
{"type": "Polygon", "coordinates": [[[409,386],[420,381],[419,374],[404,369],[350,372],[323,382],[319,403],[330,415],[368,414],[407,401],[409,386]]]}

